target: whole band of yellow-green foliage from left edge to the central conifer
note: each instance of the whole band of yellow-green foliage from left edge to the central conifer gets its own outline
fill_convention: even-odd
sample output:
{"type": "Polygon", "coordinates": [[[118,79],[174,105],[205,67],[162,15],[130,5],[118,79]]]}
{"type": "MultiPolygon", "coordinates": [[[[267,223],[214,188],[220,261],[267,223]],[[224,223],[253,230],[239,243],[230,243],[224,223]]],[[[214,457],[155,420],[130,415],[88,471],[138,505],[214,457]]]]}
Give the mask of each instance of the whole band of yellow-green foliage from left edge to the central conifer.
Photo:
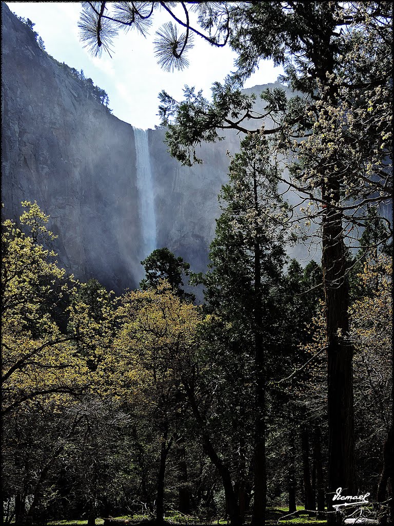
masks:
{"type": "Polygon", "coordinates": [[[141,404],[148,413],[171,398],[190,369],[200,309],[162,281],[117,305],[99,289],[92,312],[84,300],[88,284],[66,279],[44,246],[55,238],[48,216],[36,203],[23,206],[20,226],[3,222],[3,411],[81,389],[141,404]],[[66,319],[61,329],[56,308],[66,319]]]}

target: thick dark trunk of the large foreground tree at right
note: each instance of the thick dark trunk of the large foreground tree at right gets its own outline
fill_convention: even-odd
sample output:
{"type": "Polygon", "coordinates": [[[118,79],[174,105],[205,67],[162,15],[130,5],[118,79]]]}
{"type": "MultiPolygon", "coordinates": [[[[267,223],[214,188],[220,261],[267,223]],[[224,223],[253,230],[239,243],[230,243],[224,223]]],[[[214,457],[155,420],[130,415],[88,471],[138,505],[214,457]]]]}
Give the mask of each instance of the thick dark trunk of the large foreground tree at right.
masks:
{"type": "MultiPolygon", "coordinates": [[[[354,491],[353,348],[348,339],[348,285],[339,205],[339,181],[328,179],[323,187],[326,205],[323,217],[323,279],[326,304],[328,362],[328,502],[337,488],[354,491]]],[[[335,514],[328,516],[335,524],[335,514]]]]}

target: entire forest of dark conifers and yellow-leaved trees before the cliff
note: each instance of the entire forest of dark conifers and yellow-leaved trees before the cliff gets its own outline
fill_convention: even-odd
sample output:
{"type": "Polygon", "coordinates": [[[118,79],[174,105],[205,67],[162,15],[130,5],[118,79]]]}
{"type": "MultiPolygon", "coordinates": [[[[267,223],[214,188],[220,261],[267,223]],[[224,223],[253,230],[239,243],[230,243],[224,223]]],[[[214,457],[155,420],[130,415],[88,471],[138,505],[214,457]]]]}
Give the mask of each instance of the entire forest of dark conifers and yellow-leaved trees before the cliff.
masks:
{"type": "Polygon", "coordinates": [[[3,221],[4,521],[392,524],[392,6],[178,4],[186,22],[87,2],[79,26],[100,54],[162,8],[164,69],[191,34],[237,52],[211,99],[160,94],[185,165],[240,132],[209,268],[158,248],[115,297],[61,268],[37,203],[3,221]],[[262,58],[294,96],[267,89],[257,114],[241,85],[262,58]]]}

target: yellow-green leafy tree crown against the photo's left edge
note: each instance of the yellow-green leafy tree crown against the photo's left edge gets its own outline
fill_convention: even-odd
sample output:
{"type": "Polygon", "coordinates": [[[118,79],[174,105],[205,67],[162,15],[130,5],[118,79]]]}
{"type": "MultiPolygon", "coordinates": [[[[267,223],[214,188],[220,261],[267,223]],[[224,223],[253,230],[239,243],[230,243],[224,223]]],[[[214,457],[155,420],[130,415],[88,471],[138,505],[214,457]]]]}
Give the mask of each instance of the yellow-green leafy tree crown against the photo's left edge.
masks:
{"type": "Polygon", "coordinates": [[[42,242],[55,238],[48,216],[36,203],[23,203],[20,226],[2,225],[2,380],[3,411],[53,392],[72,392],[86,363],[70,346],[74,334],[61,332],[50,310],[72,295],[65,271],[42,242]],[[25,228],[28,233],[22,231],[25,228]]]}

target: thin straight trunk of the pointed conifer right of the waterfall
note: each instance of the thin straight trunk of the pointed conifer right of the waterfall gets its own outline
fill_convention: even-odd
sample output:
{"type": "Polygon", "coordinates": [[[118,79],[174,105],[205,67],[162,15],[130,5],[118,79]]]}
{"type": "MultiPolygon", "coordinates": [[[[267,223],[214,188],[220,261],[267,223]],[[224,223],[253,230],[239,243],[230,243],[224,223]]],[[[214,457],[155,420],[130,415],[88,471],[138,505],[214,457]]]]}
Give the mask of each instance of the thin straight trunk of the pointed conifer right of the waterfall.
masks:
{"type": "MultiPolygon", "coordinates": [[[[258,216],[258,196],[256,171],[253,171],[254,208],[258,216]]],[[[261,247],[256,225],[254,244],[254,339],[255,339],[255,449],[254,449],[254,498],[252,526],[265,525],[267,505],[267,473],[265,458],[266,422],[265,422],[265,356],[262,337],[262,298],[261,298],[261,247]]]]}

